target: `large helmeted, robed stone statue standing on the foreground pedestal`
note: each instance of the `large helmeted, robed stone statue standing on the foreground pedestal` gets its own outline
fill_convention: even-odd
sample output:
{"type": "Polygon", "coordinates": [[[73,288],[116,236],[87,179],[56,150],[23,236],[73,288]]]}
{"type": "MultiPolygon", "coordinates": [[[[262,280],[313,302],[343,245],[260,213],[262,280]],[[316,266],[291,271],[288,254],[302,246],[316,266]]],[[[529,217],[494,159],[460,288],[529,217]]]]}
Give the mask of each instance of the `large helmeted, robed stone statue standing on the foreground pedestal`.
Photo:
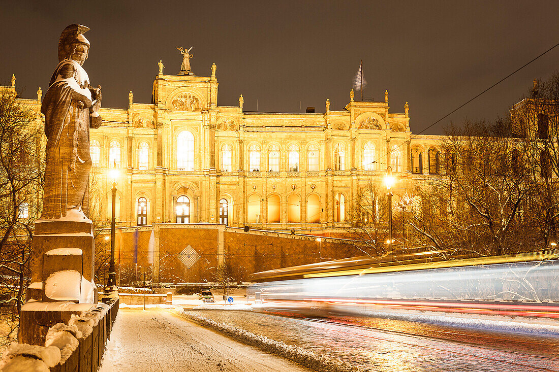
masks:
{"type": "Polygon", "coordinates": [[[82,25],[62,31],[59,64],[41,105],[47,137],[42,219],[64,217],[72,209],[88,213],[89,128],[101,126],[101,86],[89,85],[82,68],[89,53],[87,31],[82,25]]]}

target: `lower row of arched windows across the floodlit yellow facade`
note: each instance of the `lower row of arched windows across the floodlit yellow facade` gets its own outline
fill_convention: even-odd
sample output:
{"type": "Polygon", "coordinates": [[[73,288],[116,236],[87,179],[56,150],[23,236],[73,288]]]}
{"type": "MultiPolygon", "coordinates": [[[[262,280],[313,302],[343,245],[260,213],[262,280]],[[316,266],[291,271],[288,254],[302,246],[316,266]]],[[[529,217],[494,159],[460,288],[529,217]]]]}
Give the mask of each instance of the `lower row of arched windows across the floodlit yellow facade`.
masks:
{"type": "MultiPolygon", "coordinates": [[[[260,197],[257,194],[252,194],[248,198],[248,223],[260,223],[260,197]]],[[[110,208],[108,208],[110,209],[110,208]]],[[[116,206],[118,208],[118,204],[116,206]]],[[[219,201],[219,223],[229,222],[229,203],[226,199],[219,201]]],[[[318,223],[320,222],[320,214],[323,209],[320,207],[320,197],[316,194],[310,194],[307,197],[307,218],[306,222],[318,223]]],[[[117,215],[120,211],[117,211],[117,215]]],[[[145,226],[148,223],[148,201],[146,198],[141,197],[138,199],[137,204],[137,223],[138,226],[145,226]]],[[[175,206],[175,222],[176,223],[190,223],[190,199],[186,195],[181,195],[177,198],[175,206]]],[[[280,196],[271,195],[268,197],[267,203],[267,220],[269,223],[280,223],[280,196]]],[[[335,213],[336,222],[345,222],[345,196],[338,193],[335,197],[335,213]]],[[[287,198],[287,222],[298,223],[301,222],[301,199],[299,195],[291,194],[287,198]]]]}

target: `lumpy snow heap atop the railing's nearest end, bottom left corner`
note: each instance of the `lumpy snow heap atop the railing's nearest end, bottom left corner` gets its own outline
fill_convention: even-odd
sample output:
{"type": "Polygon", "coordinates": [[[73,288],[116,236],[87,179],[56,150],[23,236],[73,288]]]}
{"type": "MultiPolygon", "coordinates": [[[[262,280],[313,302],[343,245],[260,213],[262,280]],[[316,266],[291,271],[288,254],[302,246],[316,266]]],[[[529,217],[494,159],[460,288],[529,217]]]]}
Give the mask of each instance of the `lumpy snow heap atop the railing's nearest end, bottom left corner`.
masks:
{"type": "Polygon", "coordinates": [[[49,372],[60,361],[60,349],[55,346],[35,346],[13,342],[0,360],[3,372],[49,372]]]}

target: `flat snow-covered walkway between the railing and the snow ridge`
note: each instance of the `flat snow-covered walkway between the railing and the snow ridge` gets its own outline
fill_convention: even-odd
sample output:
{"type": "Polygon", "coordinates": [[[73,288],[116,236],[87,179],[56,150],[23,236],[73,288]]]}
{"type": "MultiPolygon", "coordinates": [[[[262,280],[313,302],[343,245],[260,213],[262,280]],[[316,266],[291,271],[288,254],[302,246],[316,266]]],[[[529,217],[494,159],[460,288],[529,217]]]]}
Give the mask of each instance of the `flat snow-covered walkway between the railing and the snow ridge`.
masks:
{"type": "Polygon", "coordinates": [[[100,372],[309,371],[164,309],[121,309],[100,372]]]}

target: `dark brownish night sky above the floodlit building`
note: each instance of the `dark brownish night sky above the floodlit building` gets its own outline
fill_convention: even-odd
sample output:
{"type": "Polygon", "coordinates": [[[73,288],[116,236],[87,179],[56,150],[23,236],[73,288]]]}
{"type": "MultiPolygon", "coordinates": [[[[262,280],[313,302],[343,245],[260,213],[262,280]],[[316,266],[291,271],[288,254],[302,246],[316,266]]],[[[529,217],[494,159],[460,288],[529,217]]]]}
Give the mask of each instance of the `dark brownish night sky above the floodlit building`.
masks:
{"type": "MultiPolygon", "coordinates": [[[[414,133],[559,42],[559,1],[3,1],[0,14],[0,82],[15,73],[22,97],[46,92],[60,32],[80,23],[104,107],[127,107],[129,90],[149,103],[157,62],[180,69],[176,46],[194,46],[196,75],[215,62],[218,104],[243,94],[245,111],[257,99],[259,111],[324,112],[326,98],[342,109],[362,59],[364,95],[383,101],[388,89],[392,112],[408,101],[414,133]]],[[[425,133],[503,115],[558,60],[559,47],[425,133]]]]}

